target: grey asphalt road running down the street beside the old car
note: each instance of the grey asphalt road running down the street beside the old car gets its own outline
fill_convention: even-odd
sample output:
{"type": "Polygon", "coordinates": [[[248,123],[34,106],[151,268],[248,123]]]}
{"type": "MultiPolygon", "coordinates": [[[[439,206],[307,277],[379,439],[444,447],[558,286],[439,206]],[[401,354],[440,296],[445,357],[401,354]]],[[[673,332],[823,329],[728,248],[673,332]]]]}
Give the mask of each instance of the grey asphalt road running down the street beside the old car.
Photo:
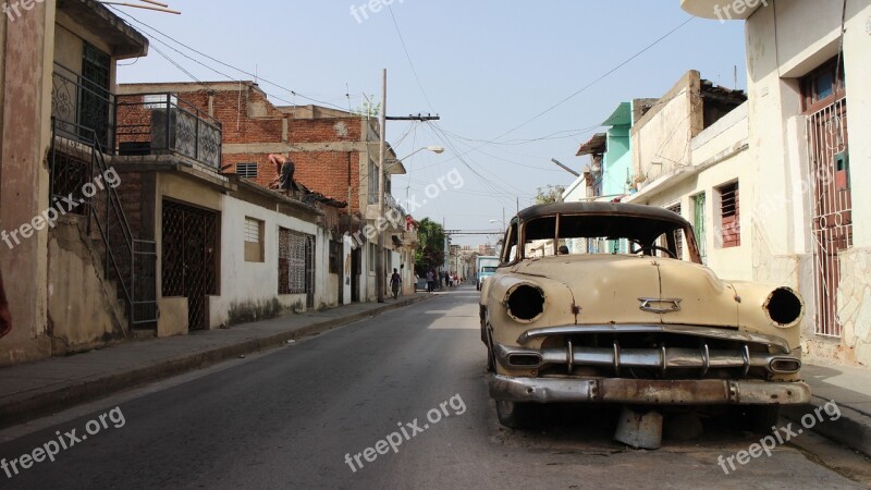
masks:
{"type": "Polygon", "coordinates": [[[459,289],[0,432],[7,464],[58,452],[12,478],[0,469],[0,488],[861,488],[792,446],[725,475],[717,456],[758,437],[713,422],[659,451],[614,443],[603,409],[557,407],[543,429],[504,430],[476,297],[459,289]]]}

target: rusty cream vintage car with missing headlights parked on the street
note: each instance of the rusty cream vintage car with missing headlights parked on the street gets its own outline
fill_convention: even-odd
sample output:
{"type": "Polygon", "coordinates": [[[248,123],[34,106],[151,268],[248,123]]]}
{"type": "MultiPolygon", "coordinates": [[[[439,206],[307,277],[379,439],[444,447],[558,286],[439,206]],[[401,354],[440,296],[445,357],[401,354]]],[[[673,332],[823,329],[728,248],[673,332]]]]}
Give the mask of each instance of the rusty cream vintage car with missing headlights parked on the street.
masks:
{"type": "Polygon", "coordinates": [[[481,291],[490,395],[513,428],[552,402],[738,405],[768,424],[810,399],[803,310],[790,287],[717,278],[672,211],[533,206],[481,291]]]}

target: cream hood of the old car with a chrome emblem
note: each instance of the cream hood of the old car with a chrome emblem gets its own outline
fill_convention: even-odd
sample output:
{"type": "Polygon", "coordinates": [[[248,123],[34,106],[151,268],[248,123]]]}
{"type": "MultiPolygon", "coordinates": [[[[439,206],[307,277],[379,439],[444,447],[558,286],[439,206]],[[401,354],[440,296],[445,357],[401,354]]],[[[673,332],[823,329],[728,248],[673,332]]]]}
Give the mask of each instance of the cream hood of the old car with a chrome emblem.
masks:
{"type": "Polygon", "coordinates": [[[737,295],[732,284],[707,267],[683,260],[630,255],[554,256],[524,260],[513,266],[507,275],[514,278],[505,278],[502,294],[518,280],[540,285],[545,296],[549,291],[559,291],[553,297],[545,297],[542,321],[536,322],[542,326],[738,326],[737,295]],[[548,287],[554,282],[565,287],[548,287]],[[563,297],[564,289],[571,297],[563,297]],[[566,301],[573,304],[552,304],[566,301]]]}

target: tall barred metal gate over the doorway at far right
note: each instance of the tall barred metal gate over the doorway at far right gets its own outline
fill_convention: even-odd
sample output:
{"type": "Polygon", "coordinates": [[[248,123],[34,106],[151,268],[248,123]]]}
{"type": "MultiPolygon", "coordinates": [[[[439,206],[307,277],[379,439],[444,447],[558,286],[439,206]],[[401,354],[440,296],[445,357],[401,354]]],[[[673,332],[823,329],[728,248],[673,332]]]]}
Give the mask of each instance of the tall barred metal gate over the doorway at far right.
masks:
{"type": "Polygon", "coordinates": [[[852,200],[847,159],[847,100],[808,117],[808,162],[812,193],[815,333],[841,338],[838,252],[852,246],[852,200]]]}

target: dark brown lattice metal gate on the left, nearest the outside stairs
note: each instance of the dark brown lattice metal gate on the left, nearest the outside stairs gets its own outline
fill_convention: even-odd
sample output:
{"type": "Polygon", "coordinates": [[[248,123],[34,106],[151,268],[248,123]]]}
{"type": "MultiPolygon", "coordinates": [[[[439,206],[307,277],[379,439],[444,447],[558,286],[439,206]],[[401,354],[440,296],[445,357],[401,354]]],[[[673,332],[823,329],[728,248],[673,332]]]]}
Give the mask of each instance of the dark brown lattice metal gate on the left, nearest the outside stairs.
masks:
{"type": "Polygon", "coordinates": [[[163,296],[187,298],[189,330],[206,329],[206,296],[218,293],[218,213],[163,200],[163,296]]]}

